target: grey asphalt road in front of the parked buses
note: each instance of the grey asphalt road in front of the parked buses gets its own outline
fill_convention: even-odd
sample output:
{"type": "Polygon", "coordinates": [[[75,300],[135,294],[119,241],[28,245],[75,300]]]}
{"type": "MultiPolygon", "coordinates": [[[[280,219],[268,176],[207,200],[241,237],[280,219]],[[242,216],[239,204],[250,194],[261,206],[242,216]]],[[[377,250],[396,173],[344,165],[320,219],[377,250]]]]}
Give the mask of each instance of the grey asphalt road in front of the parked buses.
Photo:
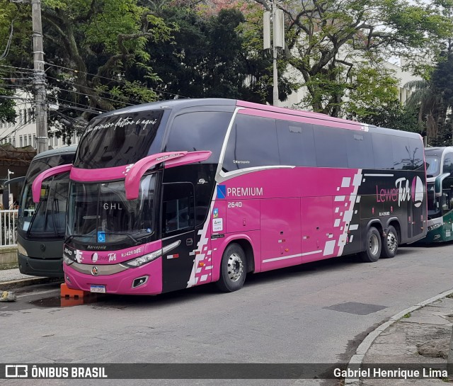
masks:
{"type": "MultiPolygon", "coordinates": [[[[345,363],[369,331],[453,288],[453,244],[331,259],[156,297],[64,305],[58,286],[0,303],[1,363],[345,363]]],[[[0,381],[1,382],[1,381],[0,381]]],[[[25,380],[8,380],[22,385],[25,380]]],[[[335,380],[37,380],[35,385],[336,385],[335,380]]]]}

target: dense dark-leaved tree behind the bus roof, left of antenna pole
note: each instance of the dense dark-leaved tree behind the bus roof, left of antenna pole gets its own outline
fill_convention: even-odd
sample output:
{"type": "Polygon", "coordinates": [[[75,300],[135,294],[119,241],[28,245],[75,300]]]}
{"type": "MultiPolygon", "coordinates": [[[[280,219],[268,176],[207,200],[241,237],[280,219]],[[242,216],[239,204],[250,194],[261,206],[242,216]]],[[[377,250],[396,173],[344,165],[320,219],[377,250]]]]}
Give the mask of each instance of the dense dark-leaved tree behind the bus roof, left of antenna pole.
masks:
{"type": "MultiPolygon", "coordinates": [[[[178,2],[180,4],[180,2],[178,2]]],[[[241,6],[238,6],[241,8],[241,6]]],[[[257,49],[250,25],[262,21],[256,6],[245,12],[220,7],[168,6],[159,16],[178,25],[171,45],[149,42],[150,66],[161,80],[149,80],[160,98],[241,98],[265,103],[272,99],[272,58],[257,49]]],[[[283,70],[283,69],[282,69],[283,70]]],[[[280,72],[282,99],[292,84],[280,72]]],[[[294,87],[293,87],[294,88],[294,87]]]]}

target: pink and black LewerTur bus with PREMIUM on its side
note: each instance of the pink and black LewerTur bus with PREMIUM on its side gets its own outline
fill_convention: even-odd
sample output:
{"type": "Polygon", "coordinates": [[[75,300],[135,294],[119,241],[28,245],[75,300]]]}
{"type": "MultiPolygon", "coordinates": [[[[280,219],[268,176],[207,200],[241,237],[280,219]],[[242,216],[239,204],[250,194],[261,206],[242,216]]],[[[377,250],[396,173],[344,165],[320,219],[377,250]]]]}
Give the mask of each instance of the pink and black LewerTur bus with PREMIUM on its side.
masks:
{"type": "Polygon", "coordinates": [[[418,134],[229,99],[94,118],[70,171],[64,279],[159,294],[346,254],[393,257],[425,237],[418,134]]]}

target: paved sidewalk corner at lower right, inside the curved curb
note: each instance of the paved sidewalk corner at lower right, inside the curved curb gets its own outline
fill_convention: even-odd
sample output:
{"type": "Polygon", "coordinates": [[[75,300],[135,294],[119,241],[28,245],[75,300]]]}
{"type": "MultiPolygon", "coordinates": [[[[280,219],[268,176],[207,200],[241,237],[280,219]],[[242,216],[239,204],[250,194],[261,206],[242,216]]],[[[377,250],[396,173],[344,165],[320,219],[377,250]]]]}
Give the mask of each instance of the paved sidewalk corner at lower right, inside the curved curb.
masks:
{"type": "MultiPolygon", "coordinates": [[[[374,330],[357,348],[350,364],[379,368],[390,364],[398,370],[404,365],[420,370],[446,365],[453,322],[453,290],[401,312],[374,330]],[[377,364],[377,366],[373,366],[377,364]]],[[[355,365],[357,367],[357,365],[355,365]]],[[[345,386],[440,386],[447,379],[345,379],[345,386]]]]}

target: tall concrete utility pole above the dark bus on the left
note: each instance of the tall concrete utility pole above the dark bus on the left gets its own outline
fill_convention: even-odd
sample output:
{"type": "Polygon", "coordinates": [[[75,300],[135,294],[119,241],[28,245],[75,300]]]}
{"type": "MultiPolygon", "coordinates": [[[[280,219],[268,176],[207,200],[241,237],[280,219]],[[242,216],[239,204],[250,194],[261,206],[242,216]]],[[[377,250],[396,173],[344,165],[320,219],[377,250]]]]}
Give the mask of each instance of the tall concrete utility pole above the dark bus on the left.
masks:
{"type": "Polygon", "coordinates": [[[33,63],[35,69],[36,152],[39,154],[49,149],[41,0],[31,0],[31,15],[33,21],[33,63]]]}

